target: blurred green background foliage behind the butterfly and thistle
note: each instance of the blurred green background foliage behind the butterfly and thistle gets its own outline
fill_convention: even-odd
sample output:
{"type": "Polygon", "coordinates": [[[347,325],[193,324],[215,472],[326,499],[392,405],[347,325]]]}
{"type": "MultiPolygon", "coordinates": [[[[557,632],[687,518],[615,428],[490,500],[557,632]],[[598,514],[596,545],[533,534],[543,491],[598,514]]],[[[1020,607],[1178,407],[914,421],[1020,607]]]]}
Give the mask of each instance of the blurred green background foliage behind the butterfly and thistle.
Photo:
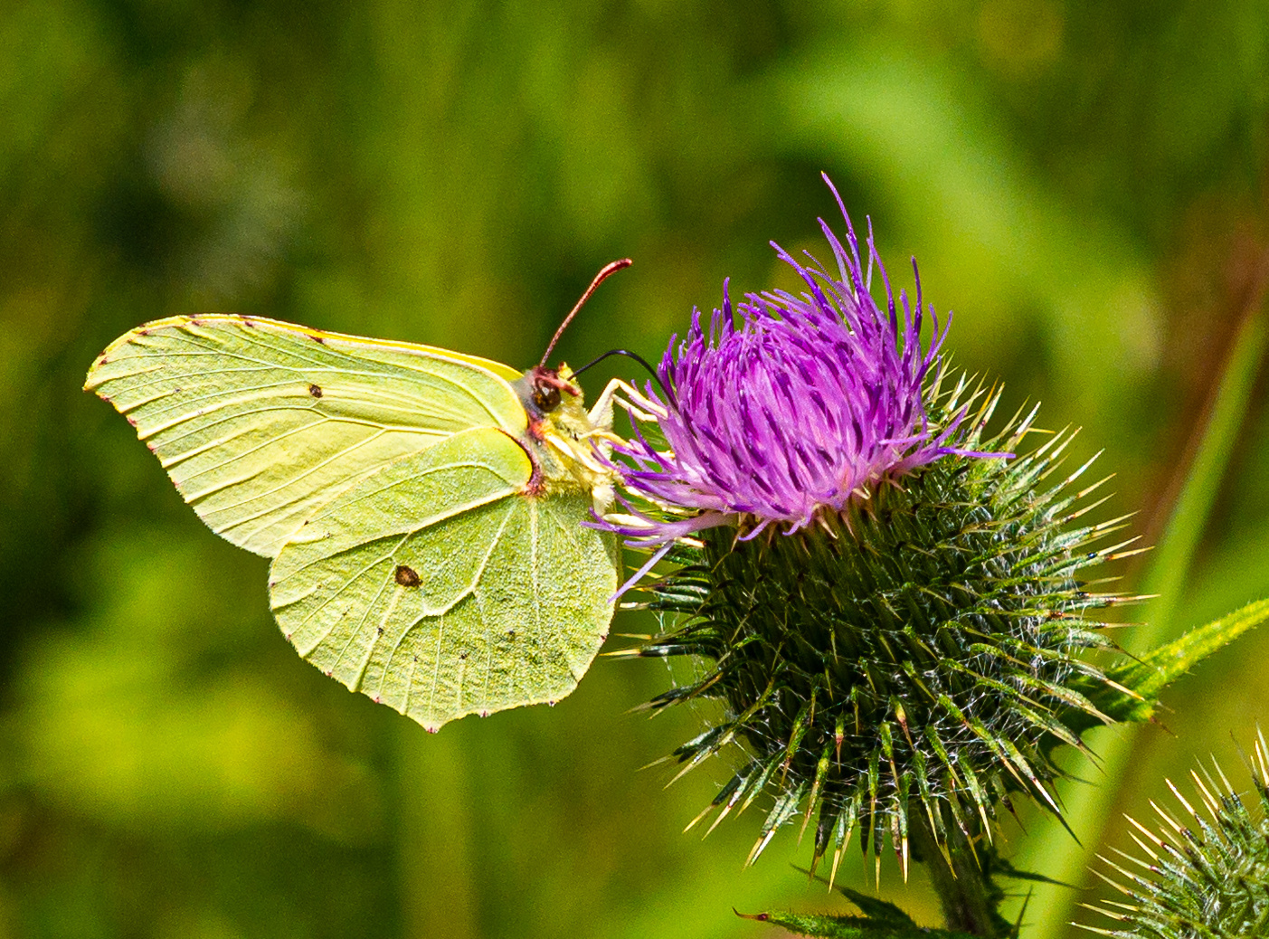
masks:
{"type": "MultiPolygon", "coordinates": [[[[631,256],[560,355],[656,357],[725,277],[787,282],[766,242],[821,244],[827,170],[957,311],[956,362],[1082,425],[1101,516],[1157,541],[1269,272],[1263,1],[6,0],[0,114],[0,936],[758,936],[732,906],[848,909],[793,832],[749,870],[758,817],[680,834],[725,768],[640,772],[694,725],[628,713],[662,665],[430,736],[302,662],[265,561],[80,391],[132,326],[240,311],[528,365],[631,256]]],[[[1251,391],[1169,631],[1269,594],[1251,391]]],[[[1237,764],[1269,633],[1166,702],[1126,779],[1081,769],[1124,794],[1053,850],[1127,848],[1112,808],[1237,764]]],[[[935,923],[919,873],[887,859],[882,892],[935,923]]],[[[1095,921],[1061,902],[1028,920],[1095,921]]]]}

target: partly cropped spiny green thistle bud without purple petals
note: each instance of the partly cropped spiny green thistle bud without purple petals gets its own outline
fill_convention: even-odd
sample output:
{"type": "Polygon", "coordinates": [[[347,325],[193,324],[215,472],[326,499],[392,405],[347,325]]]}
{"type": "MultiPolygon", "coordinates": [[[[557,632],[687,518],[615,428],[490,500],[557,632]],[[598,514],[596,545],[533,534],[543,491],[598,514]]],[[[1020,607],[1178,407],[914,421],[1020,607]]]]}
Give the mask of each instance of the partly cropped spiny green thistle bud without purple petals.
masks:
{"type": "Polygon", "coordinates": [[[1101,879],[1129,898],[1107,907],[1085,905],[1121,924],[1084,926],[1117,939],[1240,939],[1269,935],[1269,749],[1256,735],[1250,759],[1250,810],[1221,766],[1192,773],[1202,810],[1167,780],[1183,812],[1151,802],[1162,824],[1159,834],[1128,818],[1145,859],[1115,851],[1124,864],[1101,860],[1123,878],[1101,879]],[[1214,775],[1213,775],[1214,774],[1214,775]],[[1206,815],[1203,813],[1206,812],[1206,815]]]}

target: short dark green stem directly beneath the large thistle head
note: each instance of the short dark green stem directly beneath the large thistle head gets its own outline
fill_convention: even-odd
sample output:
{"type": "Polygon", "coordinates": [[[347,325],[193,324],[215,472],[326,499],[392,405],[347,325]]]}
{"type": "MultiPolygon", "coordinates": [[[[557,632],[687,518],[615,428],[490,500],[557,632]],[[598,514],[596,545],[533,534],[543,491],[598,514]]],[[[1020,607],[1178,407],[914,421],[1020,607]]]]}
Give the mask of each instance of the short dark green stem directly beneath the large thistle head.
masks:
{"type": "Polygon", "coordinates": [[[930,883],[943,906],[947,929],[985,939],[1009,935],[1008,924],[996,911],[1000,891],[991,882],[989,870],[982,867],[987,858],[976,855],[964,835],[949,826],[949,867],[930,831],[929,821],[914,812],[909,825],[912,853],[925,862],[930,883]]]}

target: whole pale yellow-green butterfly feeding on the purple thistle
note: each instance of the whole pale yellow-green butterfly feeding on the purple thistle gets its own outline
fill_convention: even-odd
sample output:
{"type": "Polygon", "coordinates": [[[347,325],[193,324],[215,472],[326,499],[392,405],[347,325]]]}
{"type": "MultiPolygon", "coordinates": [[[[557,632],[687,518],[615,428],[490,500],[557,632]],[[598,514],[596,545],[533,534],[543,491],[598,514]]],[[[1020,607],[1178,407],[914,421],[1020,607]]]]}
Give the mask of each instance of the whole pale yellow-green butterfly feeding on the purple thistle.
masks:
{"type": "Polygon", "coordinates": [[[555,703],[608,636],[618,546],[584,523],[612,499],[612,395],[586,411],[566,365],[217,313],[127,332],[84,387],[272,558],[301,656],[429,731],[555,703]]]}

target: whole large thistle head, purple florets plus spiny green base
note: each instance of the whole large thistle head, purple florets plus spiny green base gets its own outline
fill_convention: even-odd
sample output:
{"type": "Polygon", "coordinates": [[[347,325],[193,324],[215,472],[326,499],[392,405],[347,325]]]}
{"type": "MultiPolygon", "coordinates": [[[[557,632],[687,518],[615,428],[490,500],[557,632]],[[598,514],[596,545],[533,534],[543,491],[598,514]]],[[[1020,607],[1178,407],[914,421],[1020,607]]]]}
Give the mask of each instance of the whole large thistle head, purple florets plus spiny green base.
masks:
{"type": "Polygon", "coordinates": [[[1086,464],[1052,478],[1070,435],[1014,457],[1033,411],[986,439],[999,395],[947,387],[948,324],[930,308],[923,348],[920,277],[915,306],[896,305],[871,233],[864,268],[849,217],[849,250],[821,227],[835,270],[775,246],[806,291],[733,307],[725,289],[708,335],[695,313],[656,386],[631,393],[624,511],[600,524],[651,552],[631,584],[674,565],[641,584],[665,632],[631,655],[699,669],[650,707],[722,707],[674,755],[685,772],[740,754],[700,817],[765,793],[750,862],[815,818],[834,873],[855,827],[865,853],[888,836],[906,870],[910,837],[944,854],[990,839],[1011,794],[1057,812],[1049,752],[1081,746],[1066,718],[1109,722],[1080,653],[1110,646],[1085,614],[1118,598],[1076,576],[1121,546],[1090,547],[1117,523],[1071,527],[1093,487],[1070,491],[1086,464]]]}

